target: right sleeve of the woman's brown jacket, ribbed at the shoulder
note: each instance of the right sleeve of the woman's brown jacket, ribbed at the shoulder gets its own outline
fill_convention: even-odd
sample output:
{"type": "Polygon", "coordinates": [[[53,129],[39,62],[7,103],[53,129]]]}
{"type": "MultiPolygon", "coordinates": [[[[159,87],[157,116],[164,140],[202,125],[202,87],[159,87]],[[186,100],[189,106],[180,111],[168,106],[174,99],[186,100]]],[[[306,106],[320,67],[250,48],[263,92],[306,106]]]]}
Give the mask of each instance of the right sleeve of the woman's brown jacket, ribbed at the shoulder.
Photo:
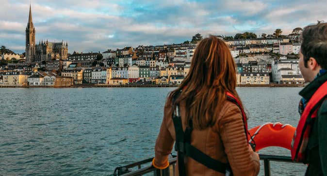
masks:
{"type": "Polygon", "coordinates": [[[218,119],[218,129],[234,176],[259,174],[259,155],[246,141],[241,110],[233,103],[226,103],[218,119]]]}

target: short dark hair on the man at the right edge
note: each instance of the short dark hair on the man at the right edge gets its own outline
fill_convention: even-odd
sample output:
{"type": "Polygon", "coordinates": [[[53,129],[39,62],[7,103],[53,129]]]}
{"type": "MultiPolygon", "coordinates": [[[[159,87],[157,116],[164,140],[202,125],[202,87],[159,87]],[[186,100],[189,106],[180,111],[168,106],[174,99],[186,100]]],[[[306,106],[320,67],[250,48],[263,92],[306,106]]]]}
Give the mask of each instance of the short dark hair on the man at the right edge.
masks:
{"type": "Polygon", "coordinates": [[[327,69],[327,23],[318,21],[318,24],[305,27],[300,40],[305,67],[312,57],[322,69],[327,69]]]}

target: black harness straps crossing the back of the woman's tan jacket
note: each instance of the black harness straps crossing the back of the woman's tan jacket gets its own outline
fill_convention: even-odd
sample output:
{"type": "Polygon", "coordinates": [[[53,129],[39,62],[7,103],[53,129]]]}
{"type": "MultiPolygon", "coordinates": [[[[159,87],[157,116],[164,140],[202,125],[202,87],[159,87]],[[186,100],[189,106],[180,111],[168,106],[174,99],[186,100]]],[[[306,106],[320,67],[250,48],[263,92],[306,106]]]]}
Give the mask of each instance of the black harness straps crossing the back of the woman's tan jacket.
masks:
{"type": "Polygon", "coordinates": [[[192,133],[192,121],[190,122],[191,127],[187,127],[185,132],[183,131],[182,121],[180,116],[179,105],[175,105],[175,101],[178,98],[180,93],[173,97],[173,122],[176,132],[176,143],[175,150],[178,152],[178,165],[179,165],[179,174],[180,176],[186,176],[185,162],[184,157],[188,156],[193,160],[207,166],[210,169],[213,169],[220,173],[226,173],[226,170],[230,170],[228,163],[222,163],[220,161],[214,160],[210,156],[206,155],[196,147],[191,145],[191,133],[192,133]]]}

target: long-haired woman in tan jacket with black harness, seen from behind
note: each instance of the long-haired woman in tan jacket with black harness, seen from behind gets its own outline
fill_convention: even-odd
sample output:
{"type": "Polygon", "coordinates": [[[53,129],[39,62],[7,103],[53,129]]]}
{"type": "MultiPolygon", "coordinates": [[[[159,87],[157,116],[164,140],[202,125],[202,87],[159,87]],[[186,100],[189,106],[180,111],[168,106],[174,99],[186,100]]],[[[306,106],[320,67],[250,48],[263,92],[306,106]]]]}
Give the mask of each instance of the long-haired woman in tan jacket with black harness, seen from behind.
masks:
{"type": "Polygon", "coordinates": [[[177,140],[175,176],[258,175],[259,156],[247,142],[246,117],[235,87],[228,46],[214,36],[203,39],[189,74],[167,98],[152,165],[168,167],[177,140]]]}

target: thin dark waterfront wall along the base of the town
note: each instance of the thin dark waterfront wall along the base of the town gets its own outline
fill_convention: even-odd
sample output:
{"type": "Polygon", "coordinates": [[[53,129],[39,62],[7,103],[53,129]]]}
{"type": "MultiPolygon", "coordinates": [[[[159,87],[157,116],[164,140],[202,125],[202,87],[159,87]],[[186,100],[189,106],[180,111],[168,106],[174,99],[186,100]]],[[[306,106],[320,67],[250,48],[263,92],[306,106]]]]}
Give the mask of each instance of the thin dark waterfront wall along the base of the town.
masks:
{"type": "MultiPolygon", "coordinates": [[[[70,87],[53,87],[53,86],[18,86],[18,85],[0,85],[0,88],[176,88],[178,85],[104,85],[104,84],[82,84],[70,87]]],[[[303,84],[264,84],[254,85],[245,84],[237,85],[238,88],[298,88],[305,87],[303,84]]]]}

